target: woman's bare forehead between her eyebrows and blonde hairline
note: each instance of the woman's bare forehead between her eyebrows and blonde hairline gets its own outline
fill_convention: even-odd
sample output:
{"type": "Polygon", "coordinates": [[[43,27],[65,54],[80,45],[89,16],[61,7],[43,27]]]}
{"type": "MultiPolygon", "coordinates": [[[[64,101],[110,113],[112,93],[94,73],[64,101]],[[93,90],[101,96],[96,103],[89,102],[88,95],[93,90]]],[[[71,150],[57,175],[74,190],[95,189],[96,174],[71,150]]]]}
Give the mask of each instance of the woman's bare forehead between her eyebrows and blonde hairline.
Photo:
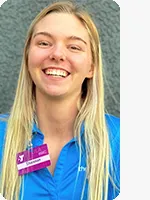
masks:
{"type": "Polygon", "coordinates": [[[87,42],[89,35],[82,22],[73,14],[50,13],[41,19],[35,26],[34,33],[45,31],[55,36],[82,37],[87,42]]]}

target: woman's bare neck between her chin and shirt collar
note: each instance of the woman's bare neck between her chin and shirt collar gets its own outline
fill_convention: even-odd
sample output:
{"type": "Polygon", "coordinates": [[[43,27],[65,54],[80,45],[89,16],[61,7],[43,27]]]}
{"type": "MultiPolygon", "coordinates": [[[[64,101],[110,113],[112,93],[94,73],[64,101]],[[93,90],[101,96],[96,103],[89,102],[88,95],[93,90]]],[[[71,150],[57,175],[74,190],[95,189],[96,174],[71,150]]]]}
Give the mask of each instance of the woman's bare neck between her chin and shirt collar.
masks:
{"type": "Polygon", "coordinates": [[[60,100],[36,95],[38,126],[46,138],[73,137],[78,99],[79,95],[60,100]]]}

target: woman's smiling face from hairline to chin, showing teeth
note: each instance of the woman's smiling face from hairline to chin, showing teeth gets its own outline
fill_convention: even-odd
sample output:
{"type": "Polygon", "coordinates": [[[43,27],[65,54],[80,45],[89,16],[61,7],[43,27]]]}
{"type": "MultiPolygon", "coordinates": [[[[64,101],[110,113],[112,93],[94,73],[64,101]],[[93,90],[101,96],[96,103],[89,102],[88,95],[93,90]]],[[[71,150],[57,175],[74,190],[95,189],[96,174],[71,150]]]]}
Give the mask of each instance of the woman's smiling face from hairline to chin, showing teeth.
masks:
{"type": "Polygon", "coordinates": [[[78,96],[93,66],[87,30],[72,14],[51,13],[35,26],[28,69],[36,95],[78,96]]]}

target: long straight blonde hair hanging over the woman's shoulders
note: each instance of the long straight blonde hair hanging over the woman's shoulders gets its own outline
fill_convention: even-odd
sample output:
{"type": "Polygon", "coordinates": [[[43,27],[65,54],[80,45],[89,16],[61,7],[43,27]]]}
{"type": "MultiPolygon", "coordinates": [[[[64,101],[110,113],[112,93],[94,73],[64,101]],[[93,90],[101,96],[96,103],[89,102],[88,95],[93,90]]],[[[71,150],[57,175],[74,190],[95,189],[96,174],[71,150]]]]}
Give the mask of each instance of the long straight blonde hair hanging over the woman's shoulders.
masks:
{"type": "MultiPolygon", "coordinates": [[[[75,15],[89,34],[94,74],[92,79],[86,79],[82,85],[82,103],[75,120],[74,133],[78,138],[81,158],[80,128],[84,121],[87,158],[86,178],[89,183],[88,199],[106,200],[108,195],[110,147],[104,113],[104,85],[99,34],[87,12],[71,2],[57,2],[44,8],[33,20],[28,30],[16,96],[8,119],[0,192],[8,200],[19,199],[22,177],[18,176],[16,154],[24,151],[28,142],[31,141],[36,104],[35,86],[27,69],[28,50],[35,25],[51,12],[64,12],[75,15]]],[[[84,186],[82,197],[83,194],[84,186]]]]}

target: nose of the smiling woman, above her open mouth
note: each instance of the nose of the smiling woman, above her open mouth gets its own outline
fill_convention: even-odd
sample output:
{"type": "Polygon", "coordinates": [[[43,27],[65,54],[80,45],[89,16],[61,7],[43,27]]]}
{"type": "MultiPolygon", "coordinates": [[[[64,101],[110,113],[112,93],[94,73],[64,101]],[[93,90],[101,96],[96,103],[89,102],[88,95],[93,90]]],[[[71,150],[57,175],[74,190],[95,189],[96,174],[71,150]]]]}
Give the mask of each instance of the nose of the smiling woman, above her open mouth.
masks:
{"type": "Polygon", "coordinates": [[[51,60],[64,61],[66,59],[63,45],[55,45],[49,55],[51,60]]]}

